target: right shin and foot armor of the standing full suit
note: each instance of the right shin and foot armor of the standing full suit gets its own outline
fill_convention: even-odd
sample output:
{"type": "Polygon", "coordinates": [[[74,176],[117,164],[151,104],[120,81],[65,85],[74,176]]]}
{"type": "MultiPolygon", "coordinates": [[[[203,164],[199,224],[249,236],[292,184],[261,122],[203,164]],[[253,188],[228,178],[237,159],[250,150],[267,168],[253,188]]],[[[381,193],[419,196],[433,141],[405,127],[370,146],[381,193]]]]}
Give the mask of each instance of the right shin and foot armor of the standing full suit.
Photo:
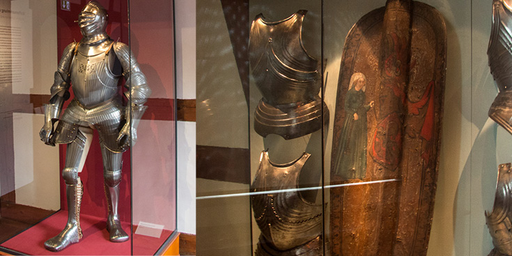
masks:
{"type": "Polygon", "coordinates": [[[117,205],[119,200],[119,184],[116,186],[108,186],[104,184],[105,195],[107,196],[107,204],[109,216],[107,217],[107,230],[110,234],[110,241],[123,242],[128,240],[128,234],[121,227],[121,221],[117,213],[117,205]]]}

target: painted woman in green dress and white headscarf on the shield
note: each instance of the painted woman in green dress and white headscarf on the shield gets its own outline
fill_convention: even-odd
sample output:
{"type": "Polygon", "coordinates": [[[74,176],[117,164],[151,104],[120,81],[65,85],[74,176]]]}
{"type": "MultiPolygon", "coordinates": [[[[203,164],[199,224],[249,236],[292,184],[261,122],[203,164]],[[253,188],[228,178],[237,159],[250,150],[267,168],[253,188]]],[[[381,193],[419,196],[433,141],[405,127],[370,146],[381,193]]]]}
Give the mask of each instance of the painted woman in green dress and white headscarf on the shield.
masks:
{"type": "Polygon", "coordinates": [[[366,77],[354,73],[345,97],[345,122],[341,129],[338,153],[333,159],[334,173],[343,179],[362,179],[366,175],[366,112],[375,102],[365,105],[366,77]]]}

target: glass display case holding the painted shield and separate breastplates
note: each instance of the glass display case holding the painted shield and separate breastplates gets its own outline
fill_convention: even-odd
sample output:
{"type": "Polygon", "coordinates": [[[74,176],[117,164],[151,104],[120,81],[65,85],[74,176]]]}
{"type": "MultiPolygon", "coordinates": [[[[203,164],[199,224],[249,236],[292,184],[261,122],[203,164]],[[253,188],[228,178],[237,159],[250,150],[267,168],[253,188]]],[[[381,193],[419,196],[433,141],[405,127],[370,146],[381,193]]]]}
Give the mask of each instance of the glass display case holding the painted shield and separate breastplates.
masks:
{"type": "Polygon", "coordinates": [[[491,2],[196,7],[198,255],[490,253],[511,161],[488,118],[491,2]],[[320,127],[287,129],[317,97],[320,127]]]}

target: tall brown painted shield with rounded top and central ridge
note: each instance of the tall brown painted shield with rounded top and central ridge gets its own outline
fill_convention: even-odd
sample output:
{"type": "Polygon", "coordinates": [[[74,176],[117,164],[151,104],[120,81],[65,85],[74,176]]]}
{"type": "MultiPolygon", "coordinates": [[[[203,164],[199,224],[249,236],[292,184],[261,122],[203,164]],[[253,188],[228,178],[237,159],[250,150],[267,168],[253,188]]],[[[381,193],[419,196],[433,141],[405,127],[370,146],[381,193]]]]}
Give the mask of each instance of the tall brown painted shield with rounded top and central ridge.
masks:
{"type": "Polygon", "coordinates": [[[426,255],[446,38],[435,8],[399,0],[364,15],[348,33],[331,182],[372,183],[331,189],[332,255],[426,255]]]}

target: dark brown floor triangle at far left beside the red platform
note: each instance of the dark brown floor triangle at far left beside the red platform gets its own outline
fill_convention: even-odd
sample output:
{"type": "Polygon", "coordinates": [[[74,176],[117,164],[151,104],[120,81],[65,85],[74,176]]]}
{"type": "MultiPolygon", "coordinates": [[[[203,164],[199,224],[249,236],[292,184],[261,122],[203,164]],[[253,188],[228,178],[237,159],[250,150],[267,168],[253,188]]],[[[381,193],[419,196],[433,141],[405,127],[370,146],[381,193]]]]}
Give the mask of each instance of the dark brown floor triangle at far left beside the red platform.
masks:
{"type": "Polygon", "coordinates": [[[42,221],[54,212],[0,200],[0,243],[42,221]]]}

